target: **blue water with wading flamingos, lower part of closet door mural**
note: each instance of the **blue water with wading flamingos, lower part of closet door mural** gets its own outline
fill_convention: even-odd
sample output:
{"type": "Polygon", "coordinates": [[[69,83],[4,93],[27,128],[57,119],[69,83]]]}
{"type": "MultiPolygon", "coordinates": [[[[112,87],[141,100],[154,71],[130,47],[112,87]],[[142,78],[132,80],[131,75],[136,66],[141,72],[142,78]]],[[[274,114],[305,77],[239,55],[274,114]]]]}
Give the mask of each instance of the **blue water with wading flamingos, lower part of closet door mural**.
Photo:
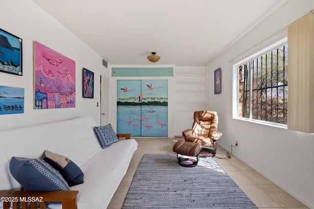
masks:
{"type": "Polygon", "coordinates": [[[117,106],[117,133],[167,137],[167,110],[166,106],[117,106]]]}

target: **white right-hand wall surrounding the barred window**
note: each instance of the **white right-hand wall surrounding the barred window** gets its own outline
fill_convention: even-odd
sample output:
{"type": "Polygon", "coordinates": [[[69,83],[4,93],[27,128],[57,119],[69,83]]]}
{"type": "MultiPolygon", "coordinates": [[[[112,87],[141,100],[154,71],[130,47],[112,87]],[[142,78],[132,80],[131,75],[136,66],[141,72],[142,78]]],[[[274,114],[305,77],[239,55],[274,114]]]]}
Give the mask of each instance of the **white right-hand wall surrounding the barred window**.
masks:
{"type": "Polygon", "coordinates": [[[233,149],[237,158],[309,208],[314,208],[314,134],[233,119],[234,63],[228,64],[228,61],[312,9],[313,0],[288,0],[278,11],[208,65],[209,89],[213,85],[213,71],[219,67],[222,69],[222,93],[214,94],[209,90],[209,110],[218,112],[219,131],[223,132],[218,144],[230,151],[230,144],[235,144],[235,140],[238,140],[239,146],[233,149]]]}

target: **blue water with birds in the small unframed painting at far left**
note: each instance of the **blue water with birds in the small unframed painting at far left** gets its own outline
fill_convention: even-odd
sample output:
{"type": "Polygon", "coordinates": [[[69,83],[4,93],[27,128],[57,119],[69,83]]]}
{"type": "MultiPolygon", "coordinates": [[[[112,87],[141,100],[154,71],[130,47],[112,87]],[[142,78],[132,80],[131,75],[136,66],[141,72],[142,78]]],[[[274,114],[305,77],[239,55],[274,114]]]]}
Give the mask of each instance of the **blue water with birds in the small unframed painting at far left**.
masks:
{"type": "Polygon", "coordinates": [[[0,115],[24,113],[24,98],[0,97],[0,115]]]}

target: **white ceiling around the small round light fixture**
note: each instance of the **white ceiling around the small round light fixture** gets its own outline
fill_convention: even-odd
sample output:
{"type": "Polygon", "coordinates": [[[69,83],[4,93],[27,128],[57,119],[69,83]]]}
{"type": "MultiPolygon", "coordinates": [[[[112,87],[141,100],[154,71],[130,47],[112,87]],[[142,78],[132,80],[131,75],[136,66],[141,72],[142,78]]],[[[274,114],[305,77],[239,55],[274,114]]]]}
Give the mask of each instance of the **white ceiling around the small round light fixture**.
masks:
{"type": "Polygon", "coordinates": [[[287,0],[33,0],[111,65],[206,66],[287,0]]]}

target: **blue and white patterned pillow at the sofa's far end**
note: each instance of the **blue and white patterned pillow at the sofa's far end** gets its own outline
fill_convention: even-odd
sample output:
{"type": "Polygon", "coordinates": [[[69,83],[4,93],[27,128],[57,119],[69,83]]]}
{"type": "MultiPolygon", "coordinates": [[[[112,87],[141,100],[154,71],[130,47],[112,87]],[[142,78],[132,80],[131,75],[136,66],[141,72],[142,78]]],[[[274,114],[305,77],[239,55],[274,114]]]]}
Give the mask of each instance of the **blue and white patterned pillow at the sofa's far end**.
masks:
{"type": "Polygon", "coordinates": [[[110,123],[105,126],[99,126],[99,127],[95,126],[94,131],[103,149],[119,141],[110,123]]]}

